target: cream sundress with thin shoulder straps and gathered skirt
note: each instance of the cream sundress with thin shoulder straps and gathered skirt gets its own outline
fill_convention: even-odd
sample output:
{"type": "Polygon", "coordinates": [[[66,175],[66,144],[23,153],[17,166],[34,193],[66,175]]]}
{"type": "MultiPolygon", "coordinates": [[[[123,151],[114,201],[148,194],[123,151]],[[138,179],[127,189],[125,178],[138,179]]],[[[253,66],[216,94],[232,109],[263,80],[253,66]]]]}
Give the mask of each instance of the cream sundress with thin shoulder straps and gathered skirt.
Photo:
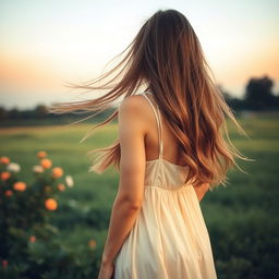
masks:
{"type": "Polygon", "coordinates": [[[187,168],[163,159],[158,105],[156,110],[147,94],[140,94],[157,120],[159,158],[146,161],[144,202],[114,258],[113,279],[215,279],[199,202],[193,185],[184,183],[187,168]]]}

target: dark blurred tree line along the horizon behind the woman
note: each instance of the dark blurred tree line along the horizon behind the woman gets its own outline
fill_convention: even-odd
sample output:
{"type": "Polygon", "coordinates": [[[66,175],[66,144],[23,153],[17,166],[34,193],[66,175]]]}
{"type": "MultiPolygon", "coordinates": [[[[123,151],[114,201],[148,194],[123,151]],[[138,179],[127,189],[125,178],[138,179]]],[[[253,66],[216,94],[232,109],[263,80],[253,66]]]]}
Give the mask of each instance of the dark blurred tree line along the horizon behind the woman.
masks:
{"type": "MultiPolygon", "coordinates": [[[[265,110],[279,110],[279,94],[274,92],[275,82],[267,75],[263,77],[252,77],[245,86],[245,93],[242,98],[233,97],[230,93],[220,90],[225,96],[226,101],[234,111],[251,110],[251,111],[265,111],[265,110]]],[[[104,111],[97,114],[95,119],[105,119],[111,111],[104,111]]],[[[86,117],[83,113],[83,117],[86,117]]],[[[83,118],[82,117],[82,118],[83,118]]],[[[10,110],[0,107],[0,121],[4,120],[19,120],[19,119],[58,119],[58,118],[76,118],[74,113],[49,113],[47,106],[37,105],[34,109],[19,110],[12,108],[10,110]]]]}

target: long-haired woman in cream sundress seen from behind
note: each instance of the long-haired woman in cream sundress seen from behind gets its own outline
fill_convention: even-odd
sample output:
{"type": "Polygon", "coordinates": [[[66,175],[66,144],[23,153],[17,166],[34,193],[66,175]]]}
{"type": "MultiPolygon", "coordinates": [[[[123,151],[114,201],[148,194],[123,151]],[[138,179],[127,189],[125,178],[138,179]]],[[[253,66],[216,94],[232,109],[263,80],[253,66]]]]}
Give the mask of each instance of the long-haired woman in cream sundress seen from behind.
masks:
{"type": "Polygon", "coordinates": [[[240,169],[236,157],[247,160],[229,140],[226,116],[244,131],[210,78],[182,13],[157,11],[129,48],[106,75],[72,85],[108,93],[52,109],[104,111],[124,97],[95,126],[118,116],[119,138],[93,150],[99,156],[90,168],[101,173],[113,165],[120,173],[98,279],[217,278],[198,202],[208,190],[226,185],[229,168],[240,169]],[[121,66],[108,83],[93,86],[121,66]],[[120,81],[113,84],[116,77],[120,81]]]}

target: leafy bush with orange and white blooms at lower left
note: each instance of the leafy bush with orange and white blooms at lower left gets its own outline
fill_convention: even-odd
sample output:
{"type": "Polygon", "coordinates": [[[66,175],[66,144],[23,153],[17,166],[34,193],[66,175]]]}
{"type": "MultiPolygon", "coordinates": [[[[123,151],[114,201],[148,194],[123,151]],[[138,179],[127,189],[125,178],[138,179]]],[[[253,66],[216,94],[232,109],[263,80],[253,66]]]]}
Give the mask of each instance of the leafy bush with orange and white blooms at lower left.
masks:
{"type": "Polygon", "coordinates": [[[38,151],[37,160],[29,184],[20,178],[19,163],[0,157],[0,278],[89,278],[97,266],[96,241],[85,243],[82,254],[87,257],[81,263],[81,255],[58,241],[59,230],[50,223],[60,208],[59,195],[74,180],[53,167],[46,151],[38,151]]]}

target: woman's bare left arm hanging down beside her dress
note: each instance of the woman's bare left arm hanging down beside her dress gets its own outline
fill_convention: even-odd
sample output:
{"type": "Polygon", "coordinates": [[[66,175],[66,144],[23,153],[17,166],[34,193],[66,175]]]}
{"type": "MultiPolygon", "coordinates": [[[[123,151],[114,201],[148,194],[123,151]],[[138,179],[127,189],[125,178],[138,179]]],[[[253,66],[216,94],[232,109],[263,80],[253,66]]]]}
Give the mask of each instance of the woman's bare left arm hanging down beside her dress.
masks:
{"type": "Polygon", "coordinates": [[[104,264],[113,262],[136,220],[144,197],[145,122],[140,99],[131,96],[119,107],[120,181],[102,253],[104,264]]]}

